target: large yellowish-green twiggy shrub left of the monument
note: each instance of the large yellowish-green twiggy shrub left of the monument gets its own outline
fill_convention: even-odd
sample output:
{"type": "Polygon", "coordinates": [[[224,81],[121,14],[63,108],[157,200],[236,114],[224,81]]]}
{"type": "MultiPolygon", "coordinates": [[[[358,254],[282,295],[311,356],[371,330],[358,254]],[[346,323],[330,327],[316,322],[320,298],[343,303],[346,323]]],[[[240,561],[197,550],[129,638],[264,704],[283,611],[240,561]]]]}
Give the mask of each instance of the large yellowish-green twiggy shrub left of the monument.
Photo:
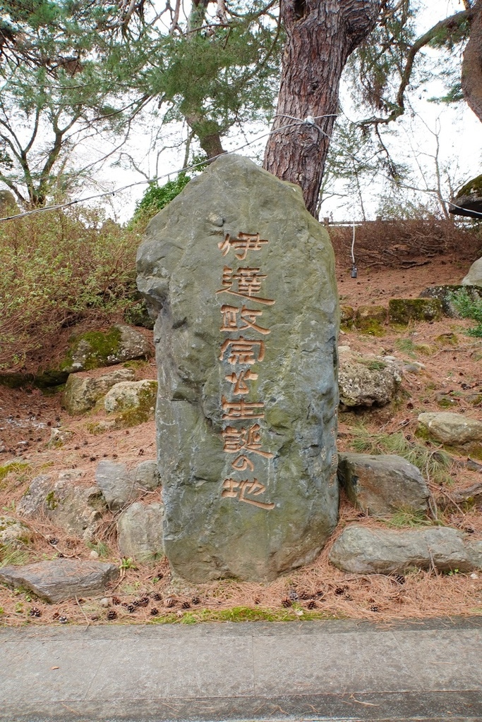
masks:
{"type": "Polygon", "coordinates": [[[88,316],[108,320],[135,289],[137,232],[76,206],[0,225],[0,371],[88,316]]]}

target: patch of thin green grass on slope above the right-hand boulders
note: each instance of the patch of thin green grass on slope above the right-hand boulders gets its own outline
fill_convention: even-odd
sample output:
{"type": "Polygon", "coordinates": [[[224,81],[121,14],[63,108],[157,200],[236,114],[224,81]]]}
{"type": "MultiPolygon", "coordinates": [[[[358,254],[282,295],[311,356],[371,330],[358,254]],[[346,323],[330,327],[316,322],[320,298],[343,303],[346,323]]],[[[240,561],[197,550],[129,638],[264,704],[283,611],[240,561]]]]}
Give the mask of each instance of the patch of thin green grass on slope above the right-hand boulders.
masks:
{"type": "Polygon", "coordinates": [[[439,448],[431,449],[420,442],[408,441],[401,431],[393,434],[374,434],[364,427],[353,429],[351,448],[357,453],[395,454],[402,456],[421,473],[435,482],[452,483],[449,469],[452,458],[439,448]]]}

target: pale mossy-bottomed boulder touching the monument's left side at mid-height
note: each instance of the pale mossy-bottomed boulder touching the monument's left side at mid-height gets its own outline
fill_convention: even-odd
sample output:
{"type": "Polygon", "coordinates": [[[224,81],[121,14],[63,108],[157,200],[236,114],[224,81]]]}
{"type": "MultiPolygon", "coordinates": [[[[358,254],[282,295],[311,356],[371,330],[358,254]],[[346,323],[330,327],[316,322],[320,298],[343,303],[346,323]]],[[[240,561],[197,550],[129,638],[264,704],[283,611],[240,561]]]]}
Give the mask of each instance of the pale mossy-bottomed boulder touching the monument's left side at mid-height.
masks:
{"type": "Polygon", "coordinates": [[[154,416],[155,397],[158,382],[121,381],[111,388],[104,398],[108,414],[116,413],[116,422],[121,426],[136,426],[154,416]]]}

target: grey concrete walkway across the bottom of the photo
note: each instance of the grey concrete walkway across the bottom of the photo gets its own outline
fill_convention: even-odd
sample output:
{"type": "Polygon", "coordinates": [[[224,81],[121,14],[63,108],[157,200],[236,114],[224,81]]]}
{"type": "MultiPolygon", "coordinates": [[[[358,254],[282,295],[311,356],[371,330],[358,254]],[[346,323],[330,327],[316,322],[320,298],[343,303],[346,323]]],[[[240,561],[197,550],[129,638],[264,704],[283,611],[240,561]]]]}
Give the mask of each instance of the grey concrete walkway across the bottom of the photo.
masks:
{"type": "Polygon", "coordinates": [[[482,720],[482,618],[0,630],[0,720],[482,720]]]}

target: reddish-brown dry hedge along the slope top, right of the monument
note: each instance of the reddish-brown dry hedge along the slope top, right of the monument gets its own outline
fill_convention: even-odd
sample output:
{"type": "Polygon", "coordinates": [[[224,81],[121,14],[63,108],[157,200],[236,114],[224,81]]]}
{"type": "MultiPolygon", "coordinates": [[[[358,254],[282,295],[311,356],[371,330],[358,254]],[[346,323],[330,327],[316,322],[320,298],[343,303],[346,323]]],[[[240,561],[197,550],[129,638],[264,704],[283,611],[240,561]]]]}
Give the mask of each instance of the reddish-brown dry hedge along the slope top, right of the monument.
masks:
{"type": "MultiPolygon", "coordinates": [[[[350,266],[353,228],[330,226],[337,261],[350,266]]],[[[482,253],[478,225],[427,219],[367,221],[356,226],[355,256],[364,266],[410,268],[435,256],[475,261],[482,253]]]]}

